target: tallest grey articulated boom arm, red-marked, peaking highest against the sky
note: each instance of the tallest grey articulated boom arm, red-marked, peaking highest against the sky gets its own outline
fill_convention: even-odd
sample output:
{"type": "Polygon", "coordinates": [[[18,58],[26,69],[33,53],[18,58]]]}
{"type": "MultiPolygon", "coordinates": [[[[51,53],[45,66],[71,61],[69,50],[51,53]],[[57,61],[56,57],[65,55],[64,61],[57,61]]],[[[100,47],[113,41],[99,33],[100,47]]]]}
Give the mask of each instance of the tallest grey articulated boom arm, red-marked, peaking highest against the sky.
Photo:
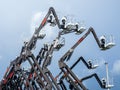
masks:
{"type": "MultiPolygon", "coordinates": [[[[60,29],[61,26],[60,26],[60,23],[59,23],[59,20],[58,20],[58,17],[56,15],[56,12],[54,10],[53,7],[50,7],[47,15],[45,16],[45,18],[43,19],[43,21],[41,22],[40,26],[38,27],[38,29],[35,30],[32,38],[30,39],[29,42],[25,42],[25,45],[22,47],[22,50],[21,50],[21,54],[19,57],[17,57],[10,65],[10,67],[8,68],[6,74],[4,75],[4,79],[2,80],[2,84],[5,85],[5,89],[8,89],[6,88],[8,81],[9,79],[12,79],[12,77],[14,76],[14,69],[15,67],[17,68],[20,68],[18,66],[21,65],[21,63],[25,62],[26,60],[29,61],[29,63],[31,64],[32,68],[34,69],[34,71],[37,73],[37,75],[39,76],[39,74],[42,75],[42,79],[44,78],[44,80],[47,82],[47,88],[51,88],[51,83],[48,79],[48,77],[44,74],[44,72],[42,71],[42,68],[40,67],[40,65],[38,64],[35,56],[32,54],[31,50],[34,49],[36,43],[37,43],[37,40],[40,38],[40,39],[43,39],[45,35],[39,35],[39,32],[41,31],[41,29],[45,26],[46,23],[49,23],[51,20],[49,19],[49,16],[53,14],[54,18],[55,18],[55,21],[56,21],[56,24],[58,25],[58,28],[60,29]],[[37,70],[36,68],[37,67],[37,70]]],[[[25,78],[26,80],[26,83],[28,84],[28,86],[30,86],[30,89],[32,90],[32,86],[30,84],[30,82],[28,81],[28,79],[26,78],[26,76],[23,74],[23,77],[25,78]]],[[[39,79],[40,81],[42,81],[41,77],[39,76],[39,79]]],[[[11,80],[10,80],[11,81],[11,80]]],[[[3,86],[4,86],[3,85],[3,86]]],[[[45,85],[44,85],[45,86],[45,85]]],[[[10,87],[11,88],[11,87],[10,87]]],[[[46,88],[46,86],[45,86],[46,88]]]]}

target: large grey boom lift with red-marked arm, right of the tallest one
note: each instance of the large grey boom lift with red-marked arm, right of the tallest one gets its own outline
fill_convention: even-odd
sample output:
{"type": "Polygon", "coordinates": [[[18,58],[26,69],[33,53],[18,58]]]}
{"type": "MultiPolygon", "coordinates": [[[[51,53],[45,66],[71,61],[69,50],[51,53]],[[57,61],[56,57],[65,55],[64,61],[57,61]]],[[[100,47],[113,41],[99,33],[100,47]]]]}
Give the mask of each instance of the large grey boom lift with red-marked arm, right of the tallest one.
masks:
{"type": "MultiPolygon", "coordinates": [[[[75,90],[79,90],[80,88],[78,88],[75,84],[74,81],[77,81],[78,85],[80,85],[81,89],[83,90],[87,90],[85,88],[85,86],[82,84],[82,82],[79,81],[79,79],[77,78],[77,76],[71,71],[71,69],[68,67],[68,65],[66,65],[64,63],[64,61],[68,61],[72,54],[73,54],[73,51],[74,49],[90,34],[90,32],[93,34],[99,48],[101,50],[107,50],[109,49],[108,46],[105,45],[105,42],[103,42],[101,39],[101,42],[99,41],[94,29],[92,27],[89,28],[89,30],[60,58],[59,60],[59,68],[61,69],[61,71],[66,75],[66,77],[70,80],[70,82],[72,83],[72,85],[74,86],[74,89],[75,90]],[[66,74],[66,73],[69,73],[69,74],[66,74]]],[[[111,45],[111,46],[114,46],[114,45],[111,45]]],[[[82,61],[85,63],[85,65],[90,68],[88,66],[88,64],[86,64],[86,62],[84,61],[84,59],[81,57],[82,61]]],[[[90,62],[89,62],[90,64],[90,62]]],[[[92,67],[91,67],[92,68],[92,67]]]]}

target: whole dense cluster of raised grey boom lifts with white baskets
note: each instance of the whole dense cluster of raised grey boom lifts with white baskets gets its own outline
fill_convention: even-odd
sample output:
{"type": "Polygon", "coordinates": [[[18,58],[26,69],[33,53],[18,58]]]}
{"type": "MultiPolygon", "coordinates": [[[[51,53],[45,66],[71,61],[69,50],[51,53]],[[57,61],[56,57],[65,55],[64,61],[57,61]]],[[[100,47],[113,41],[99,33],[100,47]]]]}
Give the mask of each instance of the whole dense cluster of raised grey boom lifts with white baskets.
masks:
{"type": "Polygon", "coordinates": [[[61,36],[75,32],[81,34],[85,31],[84,27],[78,24],[66,24],[66,18],[58,19],[53,7],[50,7],[48,13],[42,20],[40,26],[35,30],[29,42],[25,42],[21,49],[20,55],[10,63],[7,71],[0,82],[0,90],[67,90],[64,80],[69,84],[70,90],[87,90],[87,87],[82,83],[84,80],[95,77],[101,88],[108,89],[112,86],[105,80],[100,80],[96,73],[87,77],[79,79],[72,69],[82,61],[88,69],[95,69],[98,65],[94,65],[92,61],[86,61],[82,56],[69,67],[64,61],[70,60],[75,48],[90,34],[92,33],[99,48],[107,50],[113,47],[113,42],[106,43],[105,37],[98,39],[94,29],[90,27],[88,31],[79,38],[79,40],[59,59],[59,68],[61,72],[55,77],[49,70],[48,66],[51,65],[51,60],[54,51],[59,51],[65,45],[65,38],[61,36]],[[45,34],[40,34],[41,29],[46,25],[58,26],[60,31],[58,36],[51,44],[44,44],[40,49],[37,56],[34,55],[33,50],[36,47],[37,40],[44,39],[45,34]],[[21,68],[21,64],[28,61],[30,69],[26,70],[21,68]],[[59,78],[58,78],[59,77],[59,78]]]}

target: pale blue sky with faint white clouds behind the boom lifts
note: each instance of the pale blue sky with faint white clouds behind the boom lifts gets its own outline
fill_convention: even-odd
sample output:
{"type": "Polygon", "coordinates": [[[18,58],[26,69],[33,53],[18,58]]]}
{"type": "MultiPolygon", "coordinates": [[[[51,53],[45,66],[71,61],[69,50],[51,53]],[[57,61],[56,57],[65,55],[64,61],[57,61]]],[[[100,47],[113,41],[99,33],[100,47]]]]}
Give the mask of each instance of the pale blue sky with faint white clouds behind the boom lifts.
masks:
{"type": "MultiPolygon", "coordinates": [[[[58,17],[68,17],[69,21],[84,23],[86,28],[93,27],[98,37],[105,35],[114,37],[116,46],[107,51],[101,51],[90,34],[74,51],[69,66],[80,56],[86,60],[92,59],[99,64],[96,70],[88,70],[82,62],[73,70],[80,78],[97,73],[100,78],[106,77],[104,62],[108,62],[110,82],[114,84],[111,90],[120,89],[120,1],[119,0],[1,0],[0,1],[0,80],[10,62],[19,56],[24,40],[29,40],[38,27],[49,7],[54,7],[58,17]],[[78,71],[79,70],[79,71],[78,71]],[[81,73],[82,72],[82,73],[81,73]]],[[[57,27],[44,28],[47,38],[37,44],[36,52],[42,43],[55,39],[57,27]]],[[[87,32],[87,30],[85,31],[87,32]]],[[[85,33],[84,32],[84,33],[85,33]]],[[[84,35],[74,33],[64,35],[65,46],[55,52],[52,64],[49,66],[55,76],[59,72],[59,58],[84,35]],[[59,57],[59,58],[58,58],[59,57]],[[56,66],[55,66],[56,65],[56,66]],[[54,68],[54,69],[53,69],[54,68]]],[[[84,82],[89,90],[102,90],[95,78],[84,82]]]]}

